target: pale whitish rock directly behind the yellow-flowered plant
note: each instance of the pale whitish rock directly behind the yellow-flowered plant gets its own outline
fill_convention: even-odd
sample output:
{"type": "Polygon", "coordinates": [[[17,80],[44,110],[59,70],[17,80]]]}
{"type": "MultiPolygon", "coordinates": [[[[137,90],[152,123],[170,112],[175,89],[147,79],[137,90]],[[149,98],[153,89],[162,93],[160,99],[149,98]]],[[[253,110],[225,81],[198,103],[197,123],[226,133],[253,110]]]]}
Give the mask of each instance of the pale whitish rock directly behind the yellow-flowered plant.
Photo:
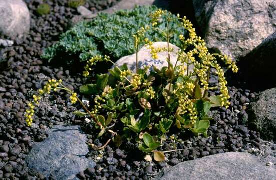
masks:
{"type": "MultiPolygon", "coordinates": [[[[163,48],[167,47],[167,42],[154,42],[153,47],[163,48]]],[[[173,51],[170,52],[170,62],[175,65],[177,61],[177,52],[180,49],[179,47],[170,43],[170,47],[173,48],[173,51]]],[[[161,69],[164,66],[168,66],[167,57],[168,52],[159,52],[157,53],[158,59],[153,59],[150,54],[150,50],[144,46],[138,51],[138,67],[142,68],[145,65],[150,66],[150,70],[153,70],[153,66],[161,69]]],[[[118,66],[127,64],[128,69],[132,72],[136,72],[136,53],[120,58],[116,63],[118,66]]],[[[114,68],[114,65],[113,67],[114,68]]],[[[192,72],[193,66],[189,66],[189,72],[192,72]]]]}

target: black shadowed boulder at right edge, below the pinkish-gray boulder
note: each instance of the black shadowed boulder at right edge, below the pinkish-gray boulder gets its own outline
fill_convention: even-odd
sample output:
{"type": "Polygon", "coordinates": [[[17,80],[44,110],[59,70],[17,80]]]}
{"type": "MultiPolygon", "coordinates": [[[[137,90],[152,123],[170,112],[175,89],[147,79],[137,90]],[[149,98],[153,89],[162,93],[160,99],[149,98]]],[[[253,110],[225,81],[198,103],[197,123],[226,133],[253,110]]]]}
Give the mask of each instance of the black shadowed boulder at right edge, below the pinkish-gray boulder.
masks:
{"type": "Polygon", "coordinates": [[[238,62],[239,72],[233,79],[239,78],[255,91],[276,87],[275,59],[276,32],[238,62]]]}

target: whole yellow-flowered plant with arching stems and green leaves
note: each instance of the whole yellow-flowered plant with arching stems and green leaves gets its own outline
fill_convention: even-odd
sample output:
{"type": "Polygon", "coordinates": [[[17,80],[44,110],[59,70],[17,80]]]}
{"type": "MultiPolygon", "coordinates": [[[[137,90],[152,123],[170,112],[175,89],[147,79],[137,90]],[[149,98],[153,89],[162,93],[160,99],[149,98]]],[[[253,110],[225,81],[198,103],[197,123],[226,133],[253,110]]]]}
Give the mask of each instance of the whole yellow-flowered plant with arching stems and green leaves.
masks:
{"type": "MultiPolygon", "coordinates": [[[[170,26],[170,14],[168,11],[158,9],[151,15],[151,25],[141,27],[133,34],[134,48],[136,51],[146,44],[150,49],[152,58],[158,58],[158,52],[168,53],[168,65],[162,69],[149,67],[138,68],[131,72],[127,65],[109,70],[108,74],[98,74],[95,83],[81,86],[80,92],[94,98],[92,108],[86,107],[77,94],[62,84],[62,81],[49,80],[43,89],[34,95],[26,110],[26,121],[30,126],[34,115],[34,104],[38,103],[41,95],[50,93],[51,90],[66,90],[71,94],[71,102],[77,101],[83,106],[85,112],[76,111],[79,116],[89,115],[98,129],[98,137],[111,133],[112,138],[102,146],[104,148],[111,140],[120,145],[124,139],[135,140],[139,149],[145,153],[154,151],[155,160],[163,157],[162,152],[155,151],[168,137],[166,134],[173,127],[183,132],[192,131],[195,135],[207,135],[211,118],[208,112],[211,107],[224,106],[228,108],[230,98],[226,87],[224,71],[220,67],[217,58],[224,61],[228,68],[237,72],[235,63],[227,56],[217,53],[211,54],[206,48],[205,42],[195,33],[195,29],[189,20],[179,18],[186,29],[179,35],[180,50],[176,64],[170,61],[170,37],[174,35],[174,29],[170,26]],[[166,21],[165,30],[158,28],[158,23],[166,21]],[[153,42],[145,37],[148,29],[161,31],[167,39],[166,48],[154,48],[153,42]],[[189,67],[193,67],[189,71],[189,67]],[[208,84],[210,68],[216,69],[219,87],[210,87],[208,84]],[[209,89],[219,89],[218,96],[208,96],[209,89]]],[[[136,53],[136,64],[139,56],[136,53]]],[[[108,56],[96,55],[87,61],[83,76],[90,79],[92,66],[97,62],[105,61],[113,63],[108,56]]],[[[114,63],[113,63],[114,64],[114,63]]],[[[110,136],[110,135],[109,135],[110,136]]],[[[161,158],[162,160],[162,158],[161,158]]]]}

